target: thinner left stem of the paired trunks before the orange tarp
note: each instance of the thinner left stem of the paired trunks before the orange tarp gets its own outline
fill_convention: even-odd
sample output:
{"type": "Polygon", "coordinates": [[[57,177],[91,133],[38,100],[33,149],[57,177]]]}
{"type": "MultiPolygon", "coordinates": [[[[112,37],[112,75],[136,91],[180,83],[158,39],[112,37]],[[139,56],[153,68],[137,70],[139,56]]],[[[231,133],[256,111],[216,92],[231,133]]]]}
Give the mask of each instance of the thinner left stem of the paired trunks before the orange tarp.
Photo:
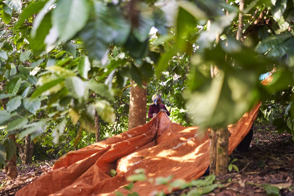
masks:
{"type": "Polygon", "coordinates": [[[215,174],[216,171],[216,144],[217,144],[217,137],[216,131],[210,129],[210,150],[209,150],[209,174],[215,174]]]}

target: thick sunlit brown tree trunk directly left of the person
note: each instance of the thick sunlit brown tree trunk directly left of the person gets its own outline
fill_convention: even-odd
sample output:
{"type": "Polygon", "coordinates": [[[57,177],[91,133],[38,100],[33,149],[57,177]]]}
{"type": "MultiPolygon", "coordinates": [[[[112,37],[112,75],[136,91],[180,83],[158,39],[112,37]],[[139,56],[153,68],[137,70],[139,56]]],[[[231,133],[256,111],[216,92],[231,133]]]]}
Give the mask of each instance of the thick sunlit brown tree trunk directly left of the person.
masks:
{"type": "Polygon", "coordinates": [[[131,86],[128,129],[146,124],[147,83],[143,82],[143,86],[146,88],[131,86]]]}

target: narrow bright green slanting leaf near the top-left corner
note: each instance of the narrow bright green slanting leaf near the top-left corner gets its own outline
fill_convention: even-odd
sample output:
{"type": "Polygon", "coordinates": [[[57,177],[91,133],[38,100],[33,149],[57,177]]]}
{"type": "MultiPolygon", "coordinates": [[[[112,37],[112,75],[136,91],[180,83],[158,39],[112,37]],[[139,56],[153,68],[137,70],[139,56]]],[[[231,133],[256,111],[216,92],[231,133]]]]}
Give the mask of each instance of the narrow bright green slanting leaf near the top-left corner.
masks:
{"type": "Polygon", "coordinates": [[[48,0],[45,1],[35,1],[34,3],[30,3],[24,11],[21,12],[14,28],[18,29],[24,21],[29,18],[31,15],[38,13],[46,4],[48,0]]]}

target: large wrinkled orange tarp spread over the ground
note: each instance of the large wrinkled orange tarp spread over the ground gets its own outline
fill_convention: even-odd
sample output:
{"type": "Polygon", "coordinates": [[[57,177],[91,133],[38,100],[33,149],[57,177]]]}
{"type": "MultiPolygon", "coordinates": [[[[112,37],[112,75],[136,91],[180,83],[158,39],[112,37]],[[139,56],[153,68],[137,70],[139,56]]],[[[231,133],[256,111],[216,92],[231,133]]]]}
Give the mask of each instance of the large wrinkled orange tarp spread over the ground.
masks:
{"type": "MultiPolygon", "coordinates": [[[[229,125],[229,150],[232,153],[249,132],[260,107],[257,104],[235,124],[229,125]]],[[[43,195],[115,195],[129,182],[126,177],[143,168],[147,177],[167,177],[187,181],[201,177],[209,166],[209,130],[183,127],[159,113],[145,125],[135,127],[112,138],[71,151],[55,163],[53,170],[23,187],[16,196],[43,195]],[[117,172],[110,176],[110,170],[117,172]]],[[[152,195],[168,193],[166,185],[137,181],[132,191],[152,195]]]]}

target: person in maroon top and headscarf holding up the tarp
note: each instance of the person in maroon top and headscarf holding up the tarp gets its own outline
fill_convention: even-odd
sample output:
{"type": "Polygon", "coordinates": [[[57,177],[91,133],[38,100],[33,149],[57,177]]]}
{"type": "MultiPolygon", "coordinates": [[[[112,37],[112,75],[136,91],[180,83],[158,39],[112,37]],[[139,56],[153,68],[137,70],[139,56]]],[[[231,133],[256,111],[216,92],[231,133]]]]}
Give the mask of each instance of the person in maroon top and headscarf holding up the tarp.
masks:
{"type": "Polygon", "coordinates": [[[171,115],[166,106],[162,104],[161,93],[155,94],[152,96],[153,103],[150,104],[148,110],[148,118],[153,118],[153,116],[157,115],[159,112],[165,112],[168,116],[171,115]]]}

